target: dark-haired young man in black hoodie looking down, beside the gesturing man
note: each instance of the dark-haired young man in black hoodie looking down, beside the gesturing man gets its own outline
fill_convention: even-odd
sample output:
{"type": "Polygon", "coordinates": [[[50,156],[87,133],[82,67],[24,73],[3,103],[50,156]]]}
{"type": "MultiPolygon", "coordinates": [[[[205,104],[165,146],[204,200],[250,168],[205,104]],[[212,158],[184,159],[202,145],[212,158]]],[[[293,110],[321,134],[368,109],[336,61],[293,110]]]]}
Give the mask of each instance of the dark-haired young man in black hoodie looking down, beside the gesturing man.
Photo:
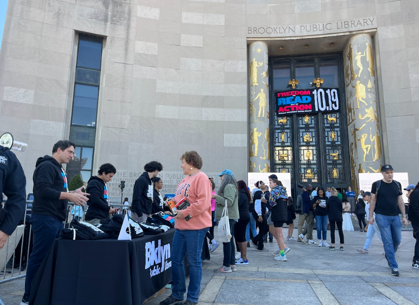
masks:
{"type": "Polygon", "coordinates": [[[100,165],[98,176],[93,176],[87,182],[87,190],[90,194],[88,196],[89,209],[86,212],[85,220],[89,224],[97,225],[101,219],[109,218],[110,214],[114,214],[117,209],[112,208],[109,203],[108,188],[106,182],[112,180],[116,173],[116,168],[110,164],[105,163],[100,165]]]}

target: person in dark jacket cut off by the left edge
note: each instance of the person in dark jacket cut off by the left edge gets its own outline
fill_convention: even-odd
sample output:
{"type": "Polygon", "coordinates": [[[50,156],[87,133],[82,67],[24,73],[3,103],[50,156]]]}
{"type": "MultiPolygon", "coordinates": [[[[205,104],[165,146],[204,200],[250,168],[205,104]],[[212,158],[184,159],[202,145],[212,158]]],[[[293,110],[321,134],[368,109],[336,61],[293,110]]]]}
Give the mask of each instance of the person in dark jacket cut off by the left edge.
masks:
{"type": "Polygon", "coordinates": [[[0,249],[6,244],[25,214],[26,178],[16,155],[0,145],[0,194],[7,196],[3,209],[0,204],[0,249]]]}

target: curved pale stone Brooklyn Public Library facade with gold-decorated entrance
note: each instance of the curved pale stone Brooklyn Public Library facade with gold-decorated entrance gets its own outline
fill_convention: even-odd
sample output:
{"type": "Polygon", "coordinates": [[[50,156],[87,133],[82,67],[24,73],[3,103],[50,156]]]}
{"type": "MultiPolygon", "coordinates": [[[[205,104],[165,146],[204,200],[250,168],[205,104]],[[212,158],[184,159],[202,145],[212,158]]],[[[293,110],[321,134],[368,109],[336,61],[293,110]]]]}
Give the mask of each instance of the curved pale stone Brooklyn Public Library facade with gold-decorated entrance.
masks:
{"type": "Polygon", "coordinates": [[[115,165],[116,198],[150,160],[173,193],[189,150],[293,189],[357,189],[385,163],[416,183],[418,33],[417,0],[9,0],[0,132],[28,143],[28,193],[60,139],[69,178],[115,165]]]}

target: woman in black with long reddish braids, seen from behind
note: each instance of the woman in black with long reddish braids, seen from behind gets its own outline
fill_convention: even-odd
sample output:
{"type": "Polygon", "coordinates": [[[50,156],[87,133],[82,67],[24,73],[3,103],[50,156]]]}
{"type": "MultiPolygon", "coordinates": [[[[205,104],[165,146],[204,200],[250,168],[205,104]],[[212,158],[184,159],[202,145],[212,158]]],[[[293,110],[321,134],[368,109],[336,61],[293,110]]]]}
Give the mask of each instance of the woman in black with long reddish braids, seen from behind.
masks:
{"type": "Polygon", "coordinates": [[[247,246],[246,246],[246,226],[250,220],[249,213],[249,202],[250,193],[247,190],[246,182],[240,180],[237,182],[237,188],[239,190],[239,221],[234,228],[234,238],[239,246],[241,257],[236,260],[238,265],[247,265],[249,263],[247,259],[247,246]]]}

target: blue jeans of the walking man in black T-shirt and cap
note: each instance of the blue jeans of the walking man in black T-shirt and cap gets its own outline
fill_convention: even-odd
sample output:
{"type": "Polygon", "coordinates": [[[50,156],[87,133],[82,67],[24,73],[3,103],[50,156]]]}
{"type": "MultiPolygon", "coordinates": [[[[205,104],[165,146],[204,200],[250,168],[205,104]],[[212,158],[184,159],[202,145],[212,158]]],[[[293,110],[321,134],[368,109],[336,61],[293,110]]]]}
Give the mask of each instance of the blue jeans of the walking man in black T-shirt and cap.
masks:
{"type": "Polygon", "coordinates": [[[401,241],[401,222],[399,216],[375,214],[375,221],[380,229],[384,252],[390,268],[398,268],[395,253],[401,241]]]}

